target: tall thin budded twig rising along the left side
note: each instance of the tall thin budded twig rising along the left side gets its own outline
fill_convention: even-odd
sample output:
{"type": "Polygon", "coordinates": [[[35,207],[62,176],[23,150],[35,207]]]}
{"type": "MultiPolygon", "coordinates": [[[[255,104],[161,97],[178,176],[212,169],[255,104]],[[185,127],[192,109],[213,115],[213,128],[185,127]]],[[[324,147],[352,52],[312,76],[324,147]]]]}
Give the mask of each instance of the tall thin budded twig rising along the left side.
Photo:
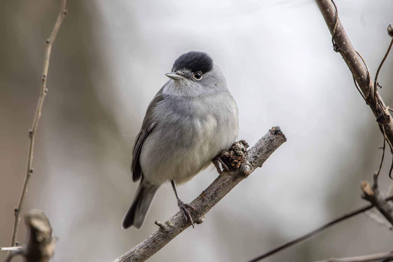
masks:
{"type": "MultiPolygon", "coordinates": [[[[20,194],[18,207],[15,208],[15,221],[14,221],[14,228],[13,228],[12,238],[11,238],[11,246],[15,246],[15,243],[16,243],[18,225],[19,225],[19,220],[20,220],[20,213],[22,211],[24,199],[26,197],[26,192],[27,192],[29,180],[30,180],[31,174],[33,174],[32,164],[33,164],[34,138],[35,138],[35,132],[36,132],[37,126],[38,126],[38,121],[41,117],[42,104],[44,103],[46,93],[48,92],[48,89],[46,88],[46,78],[48,76],[48,67],[49,67],[49,58],[50,58],[51,48],[52,48],[53,42],[55,41],[57,32],[59,31],[61,23],[62,23],[64,17],[66,16],[66,14],[67,14],[66,0],[61,0],[60,12],[59,12],[59,16],[57,17],[56,24],[53,27],[50,38],[48,38],[45,42],[45,56],[44,56],[44,66],[42,69],[42,82],[41,82],[41,88],[40,88],[40,96],[38,99],[37,108],[35,110],[33,126],[29,130],[30,142],[29,142],[29,156],[28,156],[28,163],[27,163],[27,174],[26,174],[26,178],[25,178],[25,181],[23,184],[22,193],[20,194]]],[[[6,261],[10,260],[9,257],[10,256],[7,257],[6,261]]]]}

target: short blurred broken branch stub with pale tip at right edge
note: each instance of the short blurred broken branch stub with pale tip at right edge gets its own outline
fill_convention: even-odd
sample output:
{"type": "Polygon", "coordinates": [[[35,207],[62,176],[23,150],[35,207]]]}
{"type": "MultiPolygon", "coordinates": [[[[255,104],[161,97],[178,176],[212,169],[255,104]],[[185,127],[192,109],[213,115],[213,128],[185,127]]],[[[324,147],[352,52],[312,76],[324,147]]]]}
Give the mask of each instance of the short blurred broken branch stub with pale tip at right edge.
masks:
{"type": "Polygon", "coordinates": [[[373,187],[366,180],[362,181],[361,187],[363,190],[362,198],[375,205],[387,221],[393,225],[393,207],[379,194],[377,174],[374,173],[373,187]]]}

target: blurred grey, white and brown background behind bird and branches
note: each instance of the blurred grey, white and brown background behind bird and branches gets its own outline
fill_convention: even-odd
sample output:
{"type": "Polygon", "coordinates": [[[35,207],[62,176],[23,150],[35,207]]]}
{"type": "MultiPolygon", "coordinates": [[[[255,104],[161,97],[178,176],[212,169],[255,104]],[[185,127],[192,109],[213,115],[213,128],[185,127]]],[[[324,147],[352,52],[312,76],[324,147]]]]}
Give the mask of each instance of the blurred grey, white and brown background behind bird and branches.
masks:
{"type": "MultiPolygon", "coordinates": [[[[44,54],[60,1],[0,2],[0,246],[26,172],[44,54]]],[[[389,44],[393,2],[336,0],[349,38],[375,74],[389,44]]],[[[332,50],[311,0],[69,0],[55,40],[48,96],[36,137],[24,212],[39,208],[59,237],[53,262],[112,261],[178,211],[163,186],[140,231],[123,231],[137,183],[129,165],[147,105],[174,60],[207,51],[239,107],[239,139],[253,145],[279,125],[288,141],[205,217],[149,261],[246,261],[364,205],[383,139],[332,50]]],[[[379,75],[393,103],[393,54],[379,75]]],[[[387,151],[388,152],[388,151],[387,151]]],[[[387,191],[391,156],[381,187],[387,191]]],[[[179,187],[191,202],[215,178],[209,168],[179,187]]],[[[18,240],[26,230],[22,221],[18,240]]],[[[266,261],[312,261],[393,248],[393,233],[357,216],[266,261]]],[[[0,259],[6,254],[1,253],[0,259]]],[[[20,258],[15,261],[20,261],[20,258]]]]}

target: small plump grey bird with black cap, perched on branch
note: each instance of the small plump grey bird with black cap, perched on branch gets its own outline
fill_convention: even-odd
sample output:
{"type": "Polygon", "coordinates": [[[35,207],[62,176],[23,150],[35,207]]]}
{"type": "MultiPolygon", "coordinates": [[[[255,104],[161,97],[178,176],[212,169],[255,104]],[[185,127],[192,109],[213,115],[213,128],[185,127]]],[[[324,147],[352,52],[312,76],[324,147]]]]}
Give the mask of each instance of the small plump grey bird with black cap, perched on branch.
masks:
{"type": "Polygon", "coordinates": [[[123,218],[123,228],[140,229],[160,185],[171,182],[185,220],[194,227],[175,184],[191,180],[211,162],[220,173],[217,156],[237,138],[237,105],[224,75],[204,52],[190,51],[174,61],[171,78],[147,108],[132,149],[131,172],[141,180],[134,201],[123,218]]]}

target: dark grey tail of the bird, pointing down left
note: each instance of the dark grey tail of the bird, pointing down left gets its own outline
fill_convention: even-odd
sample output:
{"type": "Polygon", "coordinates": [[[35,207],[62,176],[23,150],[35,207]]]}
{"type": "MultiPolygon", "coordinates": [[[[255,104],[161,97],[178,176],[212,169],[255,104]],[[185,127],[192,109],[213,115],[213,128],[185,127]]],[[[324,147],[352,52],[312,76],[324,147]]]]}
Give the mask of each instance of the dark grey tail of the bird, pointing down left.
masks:
{"type": "Polygon", "coordinates": [[[145,222],[146,214],[149,212],[151,203],[159,187],[159,185],[152,185],[144,181],[142,176],[138,190],[134,196],[134,201],[121,222],[123,229],[127,229],[131,226],[137,229],[142,227],[143,222],[145,222]]]}

